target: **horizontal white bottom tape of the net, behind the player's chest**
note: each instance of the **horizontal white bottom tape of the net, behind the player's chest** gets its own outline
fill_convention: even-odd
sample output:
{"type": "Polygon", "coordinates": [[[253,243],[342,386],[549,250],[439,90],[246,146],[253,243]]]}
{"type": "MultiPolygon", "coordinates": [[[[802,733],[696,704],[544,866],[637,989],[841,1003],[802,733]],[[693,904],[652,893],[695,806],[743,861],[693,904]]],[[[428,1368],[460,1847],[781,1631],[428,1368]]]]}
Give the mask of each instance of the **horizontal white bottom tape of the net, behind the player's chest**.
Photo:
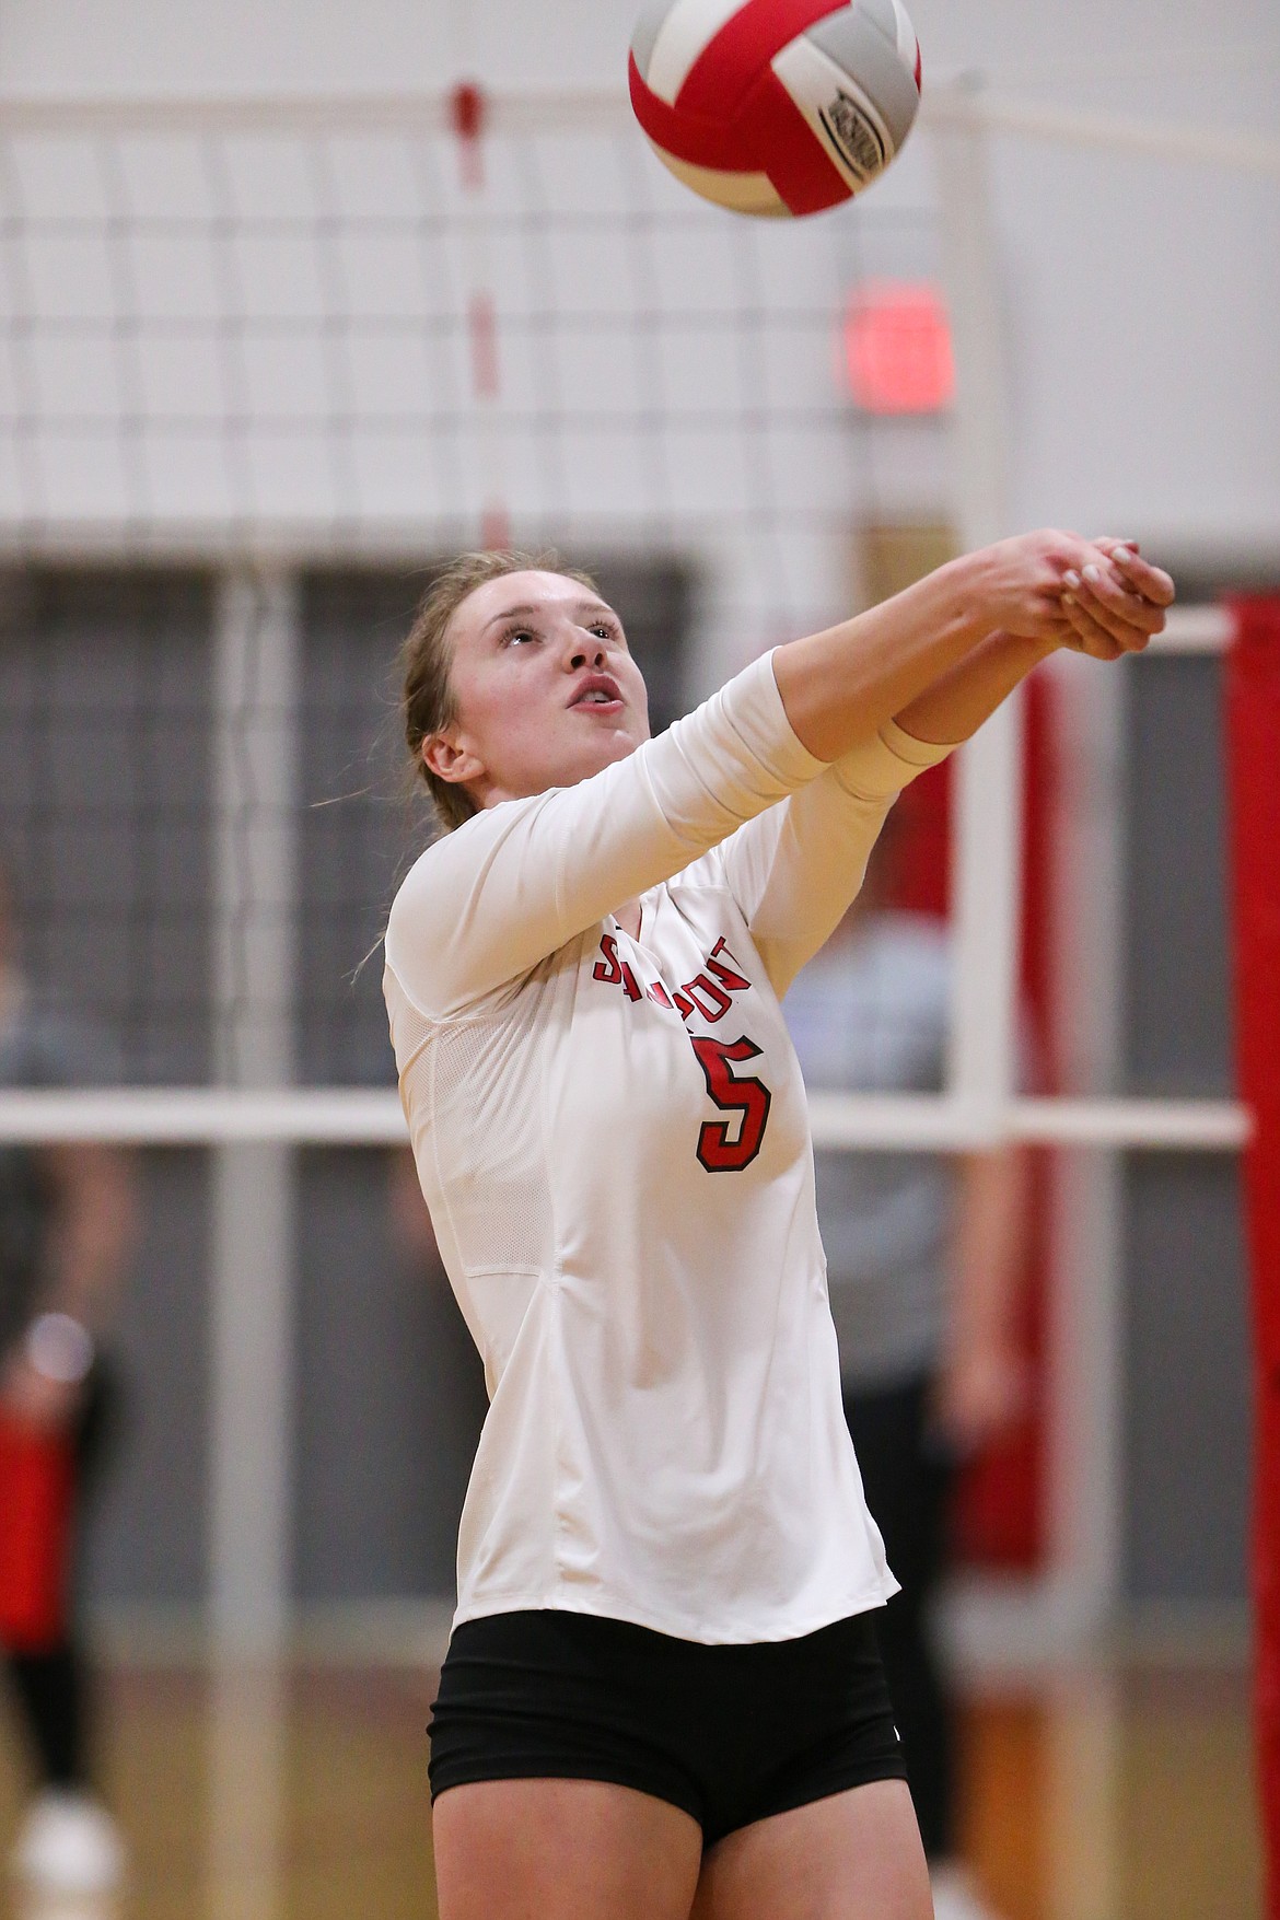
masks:
{"type": "MultiPolygon", "coordinates": [[[[992,1139],[1044,1146],[1132,1146],[1222,1152],[1249,1139],[1236,1100],[1023,1098],[992,1121],[938,1094],[810,1096],[818,1146],[963,1152],[992,1139]]],[[[113,1140],[134,1146],[219,1146],[290,1140],[296,1146],[401,1146],[405,1116],[382,1087],[94,1087],[6,1091],[0,1144],[113,1140]]]]}

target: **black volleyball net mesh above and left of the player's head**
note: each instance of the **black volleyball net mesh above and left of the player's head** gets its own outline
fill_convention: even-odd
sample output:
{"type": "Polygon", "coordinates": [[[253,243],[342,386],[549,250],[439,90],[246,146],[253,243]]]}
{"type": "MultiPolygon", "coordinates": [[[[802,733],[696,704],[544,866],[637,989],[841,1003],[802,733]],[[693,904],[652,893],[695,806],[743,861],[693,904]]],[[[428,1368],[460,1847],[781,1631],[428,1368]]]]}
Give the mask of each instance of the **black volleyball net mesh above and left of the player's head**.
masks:
{"type": "Polygon", "coordinates": [[[388,1081],[357,970],[424,835],[434,557],[599,566],[662,724],[848,607],[854,524],[948,516],[944,417],[841,372],[856,288],[936,278],[923,163],[766,234],[599,104],[422,104],[0,121],[0,828],[25,968],[129,1085],[388,1081]]]}

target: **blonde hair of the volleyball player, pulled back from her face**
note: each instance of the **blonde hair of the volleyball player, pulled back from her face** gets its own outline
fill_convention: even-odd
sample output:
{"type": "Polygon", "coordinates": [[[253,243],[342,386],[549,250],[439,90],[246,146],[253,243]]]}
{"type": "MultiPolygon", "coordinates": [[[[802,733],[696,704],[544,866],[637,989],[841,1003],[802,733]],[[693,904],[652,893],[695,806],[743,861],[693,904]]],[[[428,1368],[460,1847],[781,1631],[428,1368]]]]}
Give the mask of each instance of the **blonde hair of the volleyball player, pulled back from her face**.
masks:
{"type": "Polygon", "coordinates": [[[451,833],[476,812],[466,787],[453,780],[441,780],[422,758],[422,743],[451,726],[459,718],[457,701],[449,684],[453,649],[449,645],[449,626],[455,612],[476,588],[505,574],[560,574],[564,580],[578,580],[599,593],[591,574],[578,566],[564,566],[553,547],[537,553],[524,553],[516,547],[487,549],[484,553],[459,553],[455,561],[436,574],[430,588],[418,601],[413,626],[401,647],[401,718],[405,722],[405,743],[413,755],[415,778],[426,783],[436,808],[441,831],[451,833]]]}

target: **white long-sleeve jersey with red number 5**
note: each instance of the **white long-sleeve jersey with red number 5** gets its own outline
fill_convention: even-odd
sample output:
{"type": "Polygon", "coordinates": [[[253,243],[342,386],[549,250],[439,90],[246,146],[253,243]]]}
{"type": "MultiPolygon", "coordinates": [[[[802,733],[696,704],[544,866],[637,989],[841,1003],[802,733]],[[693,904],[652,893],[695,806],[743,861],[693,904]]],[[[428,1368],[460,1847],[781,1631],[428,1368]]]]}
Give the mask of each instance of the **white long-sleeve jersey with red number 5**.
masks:
{"type": "Polygon", "coordinates": [[[789,1640],[896,1590],[841,1407],[779,996],[946,749],[827,766],[764,657],[576,787],[436,841],[384,991],[489,1415],[457,1620],[789,1640]],[[612,918],[641,902],[639,939],[612,918]]]}

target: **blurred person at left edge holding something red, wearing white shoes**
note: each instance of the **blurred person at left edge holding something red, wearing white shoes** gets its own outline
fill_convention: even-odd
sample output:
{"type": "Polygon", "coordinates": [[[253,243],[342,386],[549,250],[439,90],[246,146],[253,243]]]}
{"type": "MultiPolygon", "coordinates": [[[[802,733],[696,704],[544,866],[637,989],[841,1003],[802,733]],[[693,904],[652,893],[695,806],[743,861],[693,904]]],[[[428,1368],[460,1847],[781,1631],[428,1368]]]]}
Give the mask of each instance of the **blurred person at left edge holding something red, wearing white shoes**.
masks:
{"type": "MultiPolygon", "coordinates": [[[[0,872],[0,1091],[100,1077],[94,1041],[33,998],[0,872]]],[[[0,1144],[0,1647],[35,1770],[10,1864],[33,1893],[106,1893],[125,1868],[90,1784],[90,1682],[73,1588],[109,1425],[100,1340],[134,1215],[121,1152],[0,1144]]]]}

